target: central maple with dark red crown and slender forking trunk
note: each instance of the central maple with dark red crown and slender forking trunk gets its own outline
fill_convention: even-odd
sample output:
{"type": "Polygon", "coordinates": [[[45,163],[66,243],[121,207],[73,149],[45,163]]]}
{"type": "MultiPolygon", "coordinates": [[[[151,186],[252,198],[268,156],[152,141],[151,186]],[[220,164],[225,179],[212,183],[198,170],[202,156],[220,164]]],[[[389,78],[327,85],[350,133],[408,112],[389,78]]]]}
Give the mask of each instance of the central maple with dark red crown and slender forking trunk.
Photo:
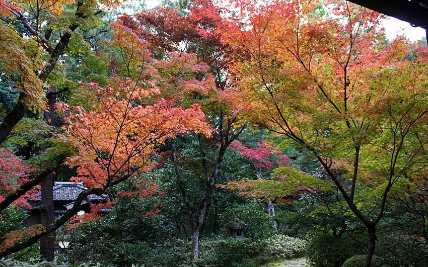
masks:
{"type": "Polygon", "coordinates": [[[167,7],[142,12],[133,17],[119,18],[142,40],[148,41],[148,48],[159,60],[165,82],[160,85],[161,96],[177,99],[183,105],[199,103],[207,117],[211,119],[213,136],[197,134],[194,138],[199,147],[198,161],[202,173],[198,174],[203,184],[204,196],[200,208],[195,212],[189,201],[189,189],[183,183],[185,166],[174,142],[170,142],[170,160],[175,169],[177,185],[180,189],[187,217],[192,231],[191,257],[197,258],[199,235],[208,208],[212,201],[214,185],[229,145],[239,136],[244,127],[235,127],[239,121],[231,115],[228,100],[223,99],[227,76],[227,49],[216,34],[219,12],[209,2],[198,1],[189,6],[189,13],[167,7]],[[209,73],[206,73],[209,72],[209,73]],[[196,86],[189,86],[189,82],[196,86]],[[208,154],[215,151],[214,158],[208,154]],[[184,169],[183,169],[184,167],[184,169]]]}

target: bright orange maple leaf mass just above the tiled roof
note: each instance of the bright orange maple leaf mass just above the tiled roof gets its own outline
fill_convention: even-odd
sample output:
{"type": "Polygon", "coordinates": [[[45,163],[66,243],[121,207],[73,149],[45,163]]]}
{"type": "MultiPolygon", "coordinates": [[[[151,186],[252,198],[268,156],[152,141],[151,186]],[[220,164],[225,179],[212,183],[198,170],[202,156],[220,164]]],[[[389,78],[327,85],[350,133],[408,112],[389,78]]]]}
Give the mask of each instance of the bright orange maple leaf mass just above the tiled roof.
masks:
{"type": "Polygon", "coordinates": [[[67,164],[78,166],[74,181],[87,187],[106,189],[137,170],[149,170],[159,145],[177,134],[194,131],[210,136],[197,104],[186,109],[174,106],[173,100],[159,99],[154,105],[140,105],[154,92],[118,77],[106,88],[91,83],[85,89],[98,99],[91,110],[65,103],[57,108],[68,114],[63,128],[78,151],[67,164]]]}

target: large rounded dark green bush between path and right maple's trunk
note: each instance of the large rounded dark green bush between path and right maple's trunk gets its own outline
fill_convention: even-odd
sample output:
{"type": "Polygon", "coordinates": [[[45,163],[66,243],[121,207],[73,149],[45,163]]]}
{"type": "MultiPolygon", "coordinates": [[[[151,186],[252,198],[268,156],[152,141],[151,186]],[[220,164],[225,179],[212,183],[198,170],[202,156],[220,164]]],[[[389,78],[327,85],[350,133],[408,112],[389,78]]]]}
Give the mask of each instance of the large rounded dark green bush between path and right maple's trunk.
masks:
{"type": "Polygon", "coordinates": [[[334,237],[329,234],[315,237],[306,248],[306,258],[315,267],[341,266],[351,256],[363,253],[365,246],[349,236],[334,237]]]}

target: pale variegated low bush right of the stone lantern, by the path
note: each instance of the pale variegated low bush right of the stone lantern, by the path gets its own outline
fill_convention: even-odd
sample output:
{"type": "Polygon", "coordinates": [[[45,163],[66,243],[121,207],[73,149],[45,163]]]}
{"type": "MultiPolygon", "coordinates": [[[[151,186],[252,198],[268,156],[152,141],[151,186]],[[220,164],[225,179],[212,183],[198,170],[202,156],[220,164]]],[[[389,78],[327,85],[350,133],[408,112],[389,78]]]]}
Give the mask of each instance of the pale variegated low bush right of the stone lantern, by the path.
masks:
{"type": "Polygon", "coordinates": [[[271,235],[264,242],[266,242],[265,252],[278,258],[300,256],[305,253],[308,244],[306,240],[282,234],[271,235]]]}

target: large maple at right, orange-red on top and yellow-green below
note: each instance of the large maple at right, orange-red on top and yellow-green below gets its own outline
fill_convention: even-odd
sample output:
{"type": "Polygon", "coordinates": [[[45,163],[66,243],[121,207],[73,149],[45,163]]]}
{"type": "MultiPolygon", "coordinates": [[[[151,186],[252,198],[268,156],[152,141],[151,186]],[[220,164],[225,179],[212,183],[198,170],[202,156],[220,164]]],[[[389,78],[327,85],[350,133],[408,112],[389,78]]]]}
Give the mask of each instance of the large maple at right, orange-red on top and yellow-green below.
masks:
{"type": "Polygon", "coordinates": [[[426,49],[384,40],[375,12],[329,1],[324,18],[316,4],[232,1],[219,26],[237,51],[230,97],[316,156],[367,228],[367,267],[391,190],[426,167],[426,49]]]}

